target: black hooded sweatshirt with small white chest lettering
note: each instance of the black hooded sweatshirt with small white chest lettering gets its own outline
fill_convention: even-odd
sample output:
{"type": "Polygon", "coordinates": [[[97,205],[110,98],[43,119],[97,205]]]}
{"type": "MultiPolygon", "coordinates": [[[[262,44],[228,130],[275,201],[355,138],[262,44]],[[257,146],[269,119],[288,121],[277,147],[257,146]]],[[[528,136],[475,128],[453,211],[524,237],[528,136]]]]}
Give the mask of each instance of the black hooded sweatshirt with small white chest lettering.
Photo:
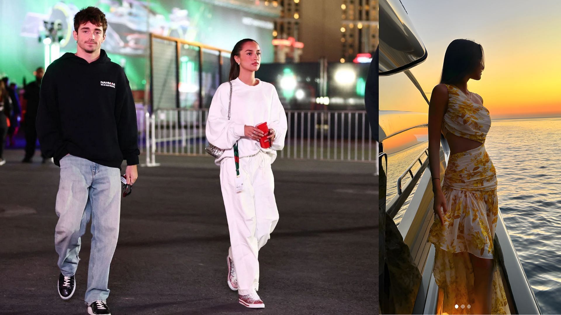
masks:
{"type": "Polygon", "coordinates": [[[136,109],[125,72],[105,50],[88,63],[66,53],[45,71],[39,97],[37,134],[54,164],[71,154],[121,168],[139,164],[136,109]]]}

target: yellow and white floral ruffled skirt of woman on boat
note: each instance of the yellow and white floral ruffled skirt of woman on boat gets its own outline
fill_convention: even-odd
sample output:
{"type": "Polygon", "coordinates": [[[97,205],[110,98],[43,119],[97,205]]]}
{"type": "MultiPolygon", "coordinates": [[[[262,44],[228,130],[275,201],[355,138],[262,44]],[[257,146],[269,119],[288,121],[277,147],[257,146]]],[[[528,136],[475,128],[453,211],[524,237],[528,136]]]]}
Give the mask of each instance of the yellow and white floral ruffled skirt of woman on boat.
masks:
{"type": "MultiPolygon", "coordinates": [[[[499,216],[496,185],[495,168],[484,145],[448,159],[442,187],[448,212],[444,225],[435,217],[429,234],[436,248],[433,274],[444,293],[442,314],[472,314],[476,301],[470,253],[494,259],[499,216]]],[[[507,298],[496,260],[492,294],[492,313],[506,314],[507,298]]]]}

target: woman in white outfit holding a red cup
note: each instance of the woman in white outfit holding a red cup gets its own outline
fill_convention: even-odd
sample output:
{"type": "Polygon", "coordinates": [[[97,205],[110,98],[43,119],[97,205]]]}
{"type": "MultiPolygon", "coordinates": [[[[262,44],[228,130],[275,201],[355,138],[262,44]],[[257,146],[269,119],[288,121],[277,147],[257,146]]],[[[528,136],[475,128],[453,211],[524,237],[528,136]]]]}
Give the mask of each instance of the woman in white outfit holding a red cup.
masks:
{"type": "Polygon", "coordinates": [[[238,291],[241,304],[263,308],[256,292],[257,256],[279,219],[271,164],[276,150],[284,147],[287,120],[275,87],[255,78],[261,63],[259,44],[252,39],[238,41],[230,63],[229,82],[218,87],[210,105],[206,138],[226,150],[215,163],[220,166],[230,232],[228,286],[238,291]],[[255,127],[264,122],[269,128],[266,134],[255,127]],[[266,137],[269,148],[261,147],[261,137],[266,137]]]}

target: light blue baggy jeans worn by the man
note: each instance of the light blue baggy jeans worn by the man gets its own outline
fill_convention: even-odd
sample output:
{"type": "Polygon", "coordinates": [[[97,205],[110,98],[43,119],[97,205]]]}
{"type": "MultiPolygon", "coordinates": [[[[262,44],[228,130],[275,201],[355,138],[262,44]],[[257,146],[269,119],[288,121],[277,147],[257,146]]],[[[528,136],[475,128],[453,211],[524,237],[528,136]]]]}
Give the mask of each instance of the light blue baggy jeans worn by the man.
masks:
{"type": "MultiPolygon", "coordinates": [[[[78,267],[80,238],[91,215],[91,251],[85,302],[109,296],[109,265],[117,246],[121,215],[121,174],[118,168],[67,155],[61,160],[54,247],[58,267],[72,276],[78,267]]],[[[76,281],[77,282],[77,281],[76,281]]]]}

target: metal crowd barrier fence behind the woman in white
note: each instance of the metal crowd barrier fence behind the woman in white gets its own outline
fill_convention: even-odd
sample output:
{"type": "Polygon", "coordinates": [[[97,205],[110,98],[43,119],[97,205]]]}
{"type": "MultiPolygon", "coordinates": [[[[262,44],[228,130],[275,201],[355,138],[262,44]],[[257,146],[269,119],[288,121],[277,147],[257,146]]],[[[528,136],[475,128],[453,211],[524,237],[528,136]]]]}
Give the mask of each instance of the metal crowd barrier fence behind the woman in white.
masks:
{"type": "MultiPolygon", "coordinates": [[[[287,110],[288,130],[279,158],[376,162],[366,112],[287,110]]],[[[155,154],[205,155],[208,109],[158,109],[145,114],[146,164],[155,154]]]]}

